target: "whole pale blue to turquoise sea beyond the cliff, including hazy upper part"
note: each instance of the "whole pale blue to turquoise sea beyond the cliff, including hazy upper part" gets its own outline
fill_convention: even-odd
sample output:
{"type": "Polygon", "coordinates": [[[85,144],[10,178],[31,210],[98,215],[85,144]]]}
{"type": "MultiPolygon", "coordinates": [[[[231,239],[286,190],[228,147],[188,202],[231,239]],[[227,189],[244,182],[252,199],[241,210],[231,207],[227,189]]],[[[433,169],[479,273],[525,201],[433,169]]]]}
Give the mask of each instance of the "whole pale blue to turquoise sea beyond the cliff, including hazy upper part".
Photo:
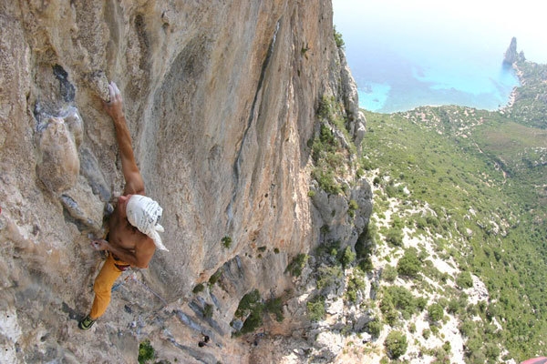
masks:
{"type": "Polygon", "coordinates": [[[382,14],[387,9],[375,10],[374,2],[363,10],[347,3],[333,0],[334,22],[345,42],[359,106],[367,110],[392,113],[426,105],[496,110],[519,86],[514,70],[503,66],[516,36],[511,29],[489,27],[488,18],[455,21],[454,14],[430,8],[417,14],[410,7],[392,8],[382,14]]]}

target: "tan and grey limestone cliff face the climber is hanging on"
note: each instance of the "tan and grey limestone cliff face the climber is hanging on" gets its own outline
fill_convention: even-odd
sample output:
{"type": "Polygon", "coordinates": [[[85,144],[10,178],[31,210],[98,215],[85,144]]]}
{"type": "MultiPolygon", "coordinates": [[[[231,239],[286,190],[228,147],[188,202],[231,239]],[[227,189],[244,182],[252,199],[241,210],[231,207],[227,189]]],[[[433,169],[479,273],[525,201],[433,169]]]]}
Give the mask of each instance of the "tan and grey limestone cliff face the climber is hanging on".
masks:
{"type": "Polygon", "coordinates": [[[369,213],[364,181],[344,196],[308,197],[306,143],[321,96],[345,106],[354,142],[364,134],[330,1],[3,0],[0,9],[0,361],[136,362],[147,338],[180,362],[251,360],[231,339],[243,295],[294,288],[285,268],[319,243],[325,198],[363,199],[355,226],[328,217],[346,244],[369,213]],[[82,332],[101,263],[88,237],[104,234],[123,189],[101,104],[109,80],[122,91],[147,194],[164,208],[170,252],[122,276],[107,314],[82,332]],[[198,351],[200,332],[214,346],[198,351]]]}

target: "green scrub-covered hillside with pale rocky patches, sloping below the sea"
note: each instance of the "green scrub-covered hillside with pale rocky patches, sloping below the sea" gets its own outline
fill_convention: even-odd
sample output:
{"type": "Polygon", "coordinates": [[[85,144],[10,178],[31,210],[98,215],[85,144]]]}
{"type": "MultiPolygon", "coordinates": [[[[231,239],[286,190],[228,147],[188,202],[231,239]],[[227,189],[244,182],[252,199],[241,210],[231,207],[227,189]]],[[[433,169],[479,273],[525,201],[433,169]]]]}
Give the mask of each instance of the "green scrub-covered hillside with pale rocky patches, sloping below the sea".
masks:
{"type": "Polygon", "coordinates": [[[422,362],[422,353],[453,362],[460,350],[466,362],[506,362],[547,351],[547,132],[542,90],[527,90],[520,87],[499,112],[366,112],[374,267],[382,272],[378,318],[407,335],[404,359],[422,362]],[[437,319],[432,305],[439,305],[437,319]],[[425,329],[417,328],[423,321],[425,329]],[[449,336],[443,330],[450,328],[457,330],[449,336]],[[424,340],[431,332],[435,348],[424,340]]]}

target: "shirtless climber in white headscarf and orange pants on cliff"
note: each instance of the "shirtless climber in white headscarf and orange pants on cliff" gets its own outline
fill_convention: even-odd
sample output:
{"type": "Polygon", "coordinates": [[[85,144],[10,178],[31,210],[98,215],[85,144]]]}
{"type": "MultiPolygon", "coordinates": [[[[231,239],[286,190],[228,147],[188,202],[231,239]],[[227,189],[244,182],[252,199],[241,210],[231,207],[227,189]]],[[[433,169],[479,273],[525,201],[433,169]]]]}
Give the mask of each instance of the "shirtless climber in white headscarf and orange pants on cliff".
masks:
{"type": "Polygon", "coordinates": [[[158,224],[162,209],[156,201],[144,196],[144,182],[133,155],[118,86],[111,82],[108,90],[110,100],[104,105],[116,128],[126,186],[114,212],[108,217],[107,238],[91,241],[93,248],[107,250],[108,258],[95,278],[93,306],[88,316],[79,321],[77,326],[80,329],[91,328],[95,320],[105,313],[114,281],[124,270],[129,267],[148,268],[156,248],[167,250],[158,234],[158,231],[163,231],[163,227],[158,224]]]}

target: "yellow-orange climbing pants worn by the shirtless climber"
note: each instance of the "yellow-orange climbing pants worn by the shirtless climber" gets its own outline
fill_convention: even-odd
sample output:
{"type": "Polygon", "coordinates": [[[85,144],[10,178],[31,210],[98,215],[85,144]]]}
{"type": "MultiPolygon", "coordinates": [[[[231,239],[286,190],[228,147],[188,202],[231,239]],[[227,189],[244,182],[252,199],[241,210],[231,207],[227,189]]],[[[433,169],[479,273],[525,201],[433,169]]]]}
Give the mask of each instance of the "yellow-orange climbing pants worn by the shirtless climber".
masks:
{"type": "Polygon", "coordinates": [[[112,286],[116,279],[119,278],[121,272],[127,268],[129,268],[129,264],[119,259],[114,260],[113,255],[108,254],[108,258],[100,269],[100,272],[98,272],[95,284],[93,285],[95,298],[93,299],[93,306],[89,313],[91,319],[98,319],[105,313],[110,303],[112,286]]]}

